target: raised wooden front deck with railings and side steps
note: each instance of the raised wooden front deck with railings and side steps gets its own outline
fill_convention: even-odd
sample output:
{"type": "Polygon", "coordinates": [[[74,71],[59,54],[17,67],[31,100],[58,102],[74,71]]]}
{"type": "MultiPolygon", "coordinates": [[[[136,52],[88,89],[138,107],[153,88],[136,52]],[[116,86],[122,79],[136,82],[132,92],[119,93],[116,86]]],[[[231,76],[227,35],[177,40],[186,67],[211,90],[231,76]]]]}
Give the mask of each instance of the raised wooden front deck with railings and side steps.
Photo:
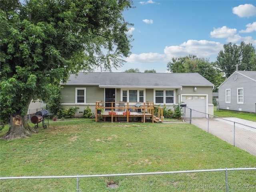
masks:
{"type": "Polygon", "coordinates": [[[129,122],[129,118],[141,118],[141,122],[146,122],[146,118],[150,118],[152,120],[152,123],[154,122],[163,122],[161,119],[162,114],[162,108],[159,108],[158,106],[154,106],[153,102],[140,102],[140,107],[136,107],[134,103],[125,103],[124,107],[119,107],[120,102],[96,102],[96,112],[97,110],[104,110],[104,112],[101,112],[101,114],[96,114],[95,122],[97,122],[98,119],[102,118],[105,122],[107,118],[110,117],[111,122],[118,122],[118,121],[126,121],[129,122]],[[108,103],[110,107],[104,107],[105,104],[108,103]],[[154,116],[154,108],[157,107],[160,110],[158,110],[158,117],[154,116]],[[130,111],[130,114],[129,114],[130,111]],[[124,112],[128,114],[124,114],[124,112]],[[160,118],[161,117],[161,118],[160,118]]]}

